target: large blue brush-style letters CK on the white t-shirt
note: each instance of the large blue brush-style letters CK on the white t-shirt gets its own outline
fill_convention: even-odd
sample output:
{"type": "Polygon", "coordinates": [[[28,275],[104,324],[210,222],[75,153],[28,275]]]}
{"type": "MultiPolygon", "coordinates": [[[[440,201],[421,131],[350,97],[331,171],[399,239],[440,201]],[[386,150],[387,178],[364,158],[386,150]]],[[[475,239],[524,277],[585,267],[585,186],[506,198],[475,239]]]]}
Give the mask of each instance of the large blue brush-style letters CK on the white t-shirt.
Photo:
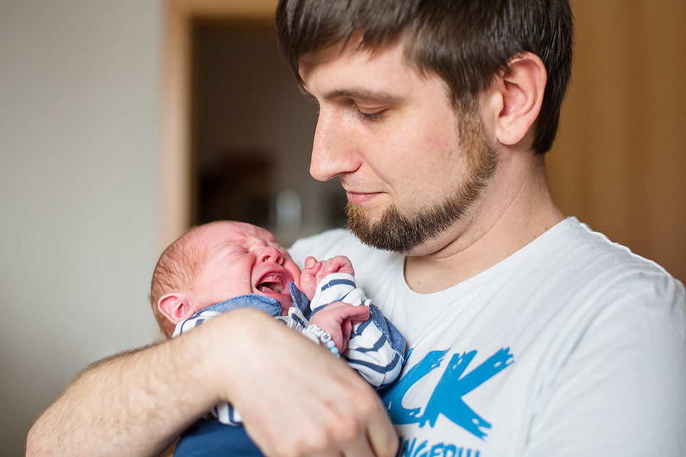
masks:
{"type": "MultiPolygon", "coordinates": [[[[411,352],[412,349],[407,353],[408,359],[411,352]]],[[[499,349],[493,356],[466,374],[464,372],[476,356],[477,351],[453,354],[424,411],[421,412],[421,408],[406,409],[402,405],[405,393],[416,382],[440,367],[440,363],[447,352],[429,352],[420,362],[409,369],[401,380],[383,392],[382,398],[386,408],[388,408],[388,415],[394,424],[418,423],[420,427],[424,427],[427,423],[433,427],[438,416],[443,415],[464,430],[484,439],[486,432],[482,429],[490,429],[490,423],[469,408],[462,397],[514,362],[514,356],[510,354],[509,347],[499,349]]]]}

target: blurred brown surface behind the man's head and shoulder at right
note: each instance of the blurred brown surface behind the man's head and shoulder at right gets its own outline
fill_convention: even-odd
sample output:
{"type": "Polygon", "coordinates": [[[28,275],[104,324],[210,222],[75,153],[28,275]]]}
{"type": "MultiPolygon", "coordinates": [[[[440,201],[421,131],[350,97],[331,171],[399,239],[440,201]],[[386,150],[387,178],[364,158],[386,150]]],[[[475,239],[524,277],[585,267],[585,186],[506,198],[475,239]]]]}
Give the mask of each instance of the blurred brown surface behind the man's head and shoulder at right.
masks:
{"type": "Polygon", "coordinates": [[[556,201],[686,280],[686,3],[573,0],[576,58],[548,159],[556,201]]]}

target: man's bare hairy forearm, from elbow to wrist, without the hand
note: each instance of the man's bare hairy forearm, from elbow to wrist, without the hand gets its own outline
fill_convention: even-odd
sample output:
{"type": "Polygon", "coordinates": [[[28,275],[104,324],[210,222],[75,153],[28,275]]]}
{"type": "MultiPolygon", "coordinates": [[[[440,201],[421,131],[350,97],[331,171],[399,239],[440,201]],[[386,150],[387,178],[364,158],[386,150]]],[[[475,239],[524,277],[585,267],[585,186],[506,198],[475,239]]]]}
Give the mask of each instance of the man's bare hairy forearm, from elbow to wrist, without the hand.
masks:
{"type": "Polygon", "coordinates": [[[86,368],[38,418],[26,455],[161,454],[216,400],[202,386],[202,343],[189,336],[86,368]]]}

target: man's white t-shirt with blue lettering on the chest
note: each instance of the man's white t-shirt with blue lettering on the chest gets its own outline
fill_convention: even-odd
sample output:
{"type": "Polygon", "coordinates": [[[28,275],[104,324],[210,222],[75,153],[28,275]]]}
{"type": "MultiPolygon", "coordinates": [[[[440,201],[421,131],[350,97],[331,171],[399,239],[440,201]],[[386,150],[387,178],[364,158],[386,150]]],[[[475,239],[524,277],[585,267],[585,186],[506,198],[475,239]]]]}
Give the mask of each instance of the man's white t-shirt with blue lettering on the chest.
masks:
{"type": "Polygon", "coordinates": [[[576,219],[431,294],[344,230],[290,253],[351,258],[405,337],[382,393],[400,456],[686,456],[683,284],[576,219]]]}

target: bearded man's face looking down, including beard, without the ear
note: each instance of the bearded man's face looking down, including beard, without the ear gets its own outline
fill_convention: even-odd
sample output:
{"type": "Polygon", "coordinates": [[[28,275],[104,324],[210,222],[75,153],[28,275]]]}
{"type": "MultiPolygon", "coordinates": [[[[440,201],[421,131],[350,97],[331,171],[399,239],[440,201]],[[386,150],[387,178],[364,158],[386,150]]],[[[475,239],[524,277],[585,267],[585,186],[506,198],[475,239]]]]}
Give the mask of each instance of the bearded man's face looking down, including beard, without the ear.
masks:
{"type": "Polygon", "coordinates": [[[300,75],[320,106],[310,173],[340,178],[362,241],[425,254],[427,241],[469,215],[497,154],[476,114],[462,119],[460,138],[445,84],[407,66],[401,43],[305,55],[300,75]]]}

